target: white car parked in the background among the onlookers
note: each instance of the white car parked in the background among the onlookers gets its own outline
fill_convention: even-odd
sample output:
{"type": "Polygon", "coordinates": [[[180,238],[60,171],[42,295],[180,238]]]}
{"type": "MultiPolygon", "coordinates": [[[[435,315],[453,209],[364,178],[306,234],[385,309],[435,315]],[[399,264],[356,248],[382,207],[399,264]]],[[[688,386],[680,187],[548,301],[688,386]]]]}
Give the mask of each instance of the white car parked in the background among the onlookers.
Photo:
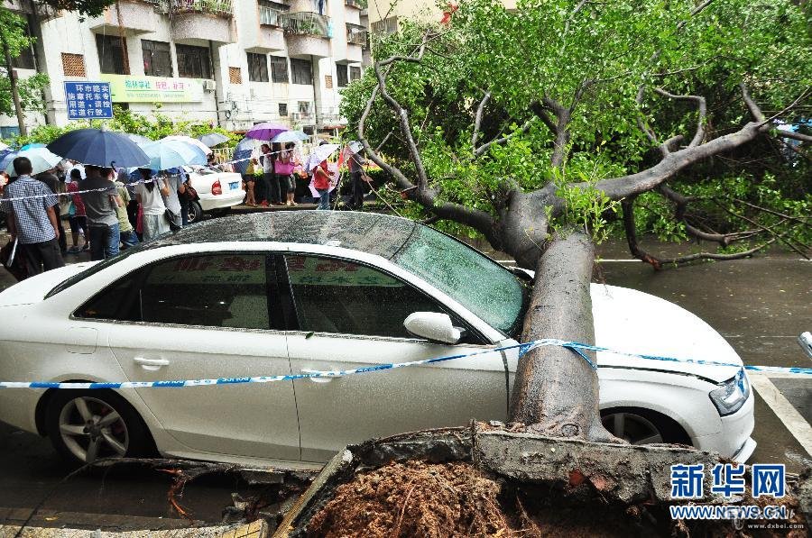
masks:
{"type": "Polygon", "coordinates": [[[204,213],[222,215],[245,199],[243,178],[235,172],[223,172],[208,167],[186,167],[189,183],[200,199],[189,205],[189,223],[200,220],[204,213]]]}

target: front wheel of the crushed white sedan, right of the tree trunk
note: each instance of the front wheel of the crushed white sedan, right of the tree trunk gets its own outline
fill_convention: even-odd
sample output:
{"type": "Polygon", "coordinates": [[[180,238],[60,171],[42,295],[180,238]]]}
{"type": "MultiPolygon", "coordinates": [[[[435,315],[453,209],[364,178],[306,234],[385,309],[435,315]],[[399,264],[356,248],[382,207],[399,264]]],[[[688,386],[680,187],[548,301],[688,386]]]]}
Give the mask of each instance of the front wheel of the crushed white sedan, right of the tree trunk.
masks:
{"type": "Polygon", "coordinates": [[[647,409],[611,409],[601,414],[601,422],[615,437],[632,444],[691,444],[687,433],[676,421],[647,409]]]}

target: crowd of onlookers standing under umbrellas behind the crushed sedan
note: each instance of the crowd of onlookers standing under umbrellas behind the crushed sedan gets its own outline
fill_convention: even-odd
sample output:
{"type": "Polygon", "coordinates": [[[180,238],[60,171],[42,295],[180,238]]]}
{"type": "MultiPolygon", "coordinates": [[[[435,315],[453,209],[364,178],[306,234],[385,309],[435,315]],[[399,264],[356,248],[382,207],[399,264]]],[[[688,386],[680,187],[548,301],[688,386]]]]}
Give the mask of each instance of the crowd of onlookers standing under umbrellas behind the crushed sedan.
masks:
{"type": "MultiPolygon", "coordinates": [[[[261,177],[249,167],[244,174],[245,204],[294,206],[296,178],[312,178],[318,209],[330,208],[337,183],[337,166],[322,160],[303,164],[295,144],[263,144],[251,164],[261,167],[261,177]]],[[[353,196],[350,206],[364,202],[363,158],[347,159],[353,196]]],[[[209,166],[217,160],[209,157],[209,166]]],[[[189,204],[197,194],[185,170],[170,169],[157,175],[151,169],[130,174],[125,169],[89,166],[64,160],[54,169],[32,175],[25,157],[13,161],[15,176],[8,180],[0,199],[8,233],[18,245],[28,276],[64,266],[71,254],[89,251],[91,260],[106,260],[139,242],[178,230],[189,222],[189,204]],[[63,228],[67,214],[70,236],[63,228]],[[70,239],[70,246],[68,245],[70,239]]]]}

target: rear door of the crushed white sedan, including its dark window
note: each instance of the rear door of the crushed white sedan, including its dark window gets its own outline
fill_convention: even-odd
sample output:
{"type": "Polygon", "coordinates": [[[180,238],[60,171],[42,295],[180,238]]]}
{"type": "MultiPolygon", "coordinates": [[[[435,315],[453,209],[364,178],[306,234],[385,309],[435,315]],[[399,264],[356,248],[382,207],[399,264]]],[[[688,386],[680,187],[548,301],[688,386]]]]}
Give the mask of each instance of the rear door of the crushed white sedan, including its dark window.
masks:
{"type": "MultiPolygon", "coordinates": [[[[84,316],[119,304],[123,323],[111,324],[109,346],[130,380],[287,375],[273,260],[263,252],[161,260],[110,287],[84,316]]],[[[291,381],[137,392],[193,451],[300,460],[291,381]]]]}

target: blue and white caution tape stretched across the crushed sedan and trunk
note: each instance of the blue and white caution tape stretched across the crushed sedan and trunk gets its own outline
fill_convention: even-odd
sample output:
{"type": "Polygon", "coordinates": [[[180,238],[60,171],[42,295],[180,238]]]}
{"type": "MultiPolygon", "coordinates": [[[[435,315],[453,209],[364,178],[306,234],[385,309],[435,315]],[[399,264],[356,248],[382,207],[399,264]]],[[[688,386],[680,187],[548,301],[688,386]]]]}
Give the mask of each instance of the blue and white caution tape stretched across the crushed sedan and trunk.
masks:
{"type": "Polygon", "coordinates": [[[583,351],[604,351],[614,353],[616,355],[625,355],[627,357],[637,357],[646,360],[664,360],[667,362],[684,362],[690,364],[703,364],[707,366],[729,366],[736,369],[744,368],[750,371],[766,371],[784,374],[798,374],[804,376],[812,376],[812,368],[780,368],[774,366],[748,366],[742,367],[740,364],[732,362],[720,362],[716,360],[698,360],[698,359],[678,359],[675,357],[661,357],[658,355],[643,355],[640,353],[630,353],[626,351],[614,351],[608,348],[603,348],[594,345],[588,345],[580,342],[567,342],[564,340],[544,339],[534,340],[532,342],[519,343],[501,348],[488,349],[483,351],[475,351],[473,353],[464,353],[460,355],[448,355],[445,357],[436,357],[434,359],[424,360],[411,360],[410,362],[396,362],[387,364],[376,364],[374,366],[364,366],[356,369],[345,370],[325,370],[307,372],[301,374],[291,374],[285,376],[258,376],[254,378],[216,378],[216,379],[186,379],[186,380],[169,380],[169,381],[123,381],[120,383],[59,383],[50,381],[0,381],[0,388],[180,388],[180,387],[210,387],[213,385],[241,385],[245,383],[272,383],[273,381],[291,381],[295,379],[309,379],[309,378],[342,378],[354,374],[364,374],[375,371],[383,371],[387,369],[406,368],[410,366],[421,366],[424,364],[433,364],[436,362],[445,362],[447,360],[464,359],[466,357],[473,357],[475,355],[483,355],[485,353],[494,353],[499,351],[519,350],[521,357],[525,353],[534,350],[541,346],[560,346],[569,350],[575,351],[580,355],[589,366],[595,369],[595,363],[586,357],[583,351]]]}

